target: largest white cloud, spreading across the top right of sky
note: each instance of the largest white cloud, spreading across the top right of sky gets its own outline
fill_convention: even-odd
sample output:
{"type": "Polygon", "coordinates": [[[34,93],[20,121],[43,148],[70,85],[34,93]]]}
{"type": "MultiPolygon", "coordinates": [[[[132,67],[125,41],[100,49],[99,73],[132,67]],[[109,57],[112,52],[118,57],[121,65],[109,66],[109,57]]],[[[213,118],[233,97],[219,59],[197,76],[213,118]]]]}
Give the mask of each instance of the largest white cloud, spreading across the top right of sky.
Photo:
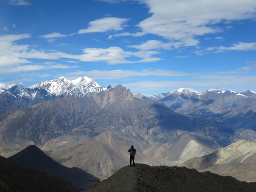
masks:
{"type": "MultiPolygon", "coordinates": [[[[223,29],[214,24],[224,21],[255,18],[255,0],[140,0],[147,4],[151,17],[137,26],[141,32],[109,36],[141,36],[154,34],[182,46],[196,46],[196,36],[218,33],[223,29]]],[[[231,27],[227,27],[231,28],[231,27]]]]}

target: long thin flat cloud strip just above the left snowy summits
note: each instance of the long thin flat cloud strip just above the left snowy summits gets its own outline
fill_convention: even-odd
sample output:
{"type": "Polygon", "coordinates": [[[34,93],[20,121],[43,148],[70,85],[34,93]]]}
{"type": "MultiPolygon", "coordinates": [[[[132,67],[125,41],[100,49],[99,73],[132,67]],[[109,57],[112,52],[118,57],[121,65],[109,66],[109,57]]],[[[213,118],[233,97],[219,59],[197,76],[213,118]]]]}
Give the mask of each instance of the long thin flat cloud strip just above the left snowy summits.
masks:
{"type": "Polygon", "coordinates": [[[64,74],[69,79],[77,78],[77,76],[88,76],[92,79],[123,79],[133,76],[188,76],[189,74],[177,71],[168,70],[143,70],[143,71],[131,71],[131,70],[111,70],[111,71],[76,71],[64,74]]]}

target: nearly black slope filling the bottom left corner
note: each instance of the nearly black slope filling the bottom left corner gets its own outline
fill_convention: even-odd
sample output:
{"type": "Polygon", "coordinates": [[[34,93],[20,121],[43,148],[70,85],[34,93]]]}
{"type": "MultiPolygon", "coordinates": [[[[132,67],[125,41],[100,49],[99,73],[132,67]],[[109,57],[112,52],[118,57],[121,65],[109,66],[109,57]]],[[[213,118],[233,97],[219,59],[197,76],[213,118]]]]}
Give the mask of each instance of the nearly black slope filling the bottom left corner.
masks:
{"type": "Polygon", "coordinates": [[[68,181],[48,173],[18,165],[0,156],[0,191],[75,192],[68,181]]]}

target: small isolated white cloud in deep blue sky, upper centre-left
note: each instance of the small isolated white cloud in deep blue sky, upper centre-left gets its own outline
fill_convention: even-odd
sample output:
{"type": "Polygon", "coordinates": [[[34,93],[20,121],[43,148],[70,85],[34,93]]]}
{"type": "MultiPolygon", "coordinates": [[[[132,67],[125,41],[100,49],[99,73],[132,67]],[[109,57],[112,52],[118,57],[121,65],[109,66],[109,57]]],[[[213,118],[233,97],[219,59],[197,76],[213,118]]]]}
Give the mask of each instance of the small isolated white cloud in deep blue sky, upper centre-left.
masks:
{"type": "Polygon", "coordinates": [[[89,22],[87,29],[80,29],[79,34],[93,33],[93,32],[107,32],[107,31],[120,31],[124,29],[124,23],[129,19],[117,18],[117,17],[105,17],[89,22]]]}

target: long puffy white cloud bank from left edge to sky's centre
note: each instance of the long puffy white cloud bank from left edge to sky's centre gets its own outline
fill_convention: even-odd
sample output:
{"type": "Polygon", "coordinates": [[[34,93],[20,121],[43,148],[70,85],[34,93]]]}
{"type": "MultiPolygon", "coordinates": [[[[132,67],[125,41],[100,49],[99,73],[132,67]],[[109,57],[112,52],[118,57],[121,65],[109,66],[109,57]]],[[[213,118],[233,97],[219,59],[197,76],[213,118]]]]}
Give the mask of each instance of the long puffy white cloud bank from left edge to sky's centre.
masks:
{"type": "MultiPolygon", "coordinates": [[[[1,72],[14,72],[26,70],[40,70],[42,68],[68,68],[67,65],[54,64],[51,66],[32,65],[29,59],[44,59],[44,60],[59,60],[60,58],[74,59],[85,62],[106,62],[108,64],[122,64],[122,63],[140,63],[140,62],[155,62],[161,60],[160,58],[151,57],[158,54],[156,51],[138,51],[126,52],[119,47],[109,47],[106,49],[100,48],[85,48],[83,54],[72,55],[64,52],[44,50],[36,50],[29,45],[18,45],[14,43],[19,39],[29,38],[29,34],[20,35],[4,35],[0,36],[0,68],[1,72]],[[136,57],[137,60],[126,60],[128,57],[136,57]],[[25,65],[25,64],[31,65],[25,65]],[[22,65],[23,64],[23,65],[22,65]],[[33,67],[34,66],[34,67],[33,67]],[[3,69],[4,68],[4,69],[3,69]],[[17,68],[17,69],[15,69],[17,68]]],[[[68,61],[76,62],[76,61],[68,61]]],[[[74,66],[69,66],[74,67],[74,66]]],[[[77,66],[75,66],[77,67],[77,66]]]]}

